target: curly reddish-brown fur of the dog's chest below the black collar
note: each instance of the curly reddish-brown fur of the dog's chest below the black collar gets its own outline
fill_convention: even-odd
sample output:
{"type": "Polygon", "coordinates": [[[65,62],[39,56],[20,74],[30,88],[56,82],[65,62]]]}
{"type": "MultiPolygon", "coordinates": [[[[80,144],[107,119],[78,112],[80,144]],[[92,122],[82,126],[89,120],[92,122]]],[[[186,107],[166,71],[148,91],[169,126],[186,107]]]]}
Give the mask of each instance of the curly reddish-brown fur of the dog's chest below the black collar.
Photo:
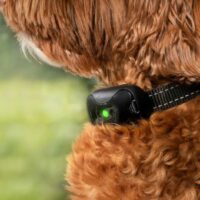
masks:
{"type": "Polygon", "coordinates": [[[199,103],[134,126],[87,125],[69,158],[73,199],[200,199],[199,103]]]}

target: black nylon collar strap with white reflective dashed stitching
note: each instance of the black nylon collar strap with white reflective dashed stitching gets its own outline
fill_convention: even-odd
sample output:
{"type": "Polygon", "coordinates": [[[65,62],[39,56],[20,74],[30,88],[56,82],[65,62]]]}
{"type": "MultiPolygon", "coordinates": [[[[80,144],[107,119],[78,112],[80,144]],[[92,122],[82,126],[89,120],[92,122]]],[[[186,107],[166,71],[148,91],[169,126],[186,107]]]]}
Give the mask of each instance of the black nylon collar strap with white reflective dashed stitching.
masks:
{"type": "Polygon", "coordinates": [[[166,110],[180,105],[200,95],[200,85],[170,84],[158,87],[148,93],[153,102],[153,110],[166,110]]]}

